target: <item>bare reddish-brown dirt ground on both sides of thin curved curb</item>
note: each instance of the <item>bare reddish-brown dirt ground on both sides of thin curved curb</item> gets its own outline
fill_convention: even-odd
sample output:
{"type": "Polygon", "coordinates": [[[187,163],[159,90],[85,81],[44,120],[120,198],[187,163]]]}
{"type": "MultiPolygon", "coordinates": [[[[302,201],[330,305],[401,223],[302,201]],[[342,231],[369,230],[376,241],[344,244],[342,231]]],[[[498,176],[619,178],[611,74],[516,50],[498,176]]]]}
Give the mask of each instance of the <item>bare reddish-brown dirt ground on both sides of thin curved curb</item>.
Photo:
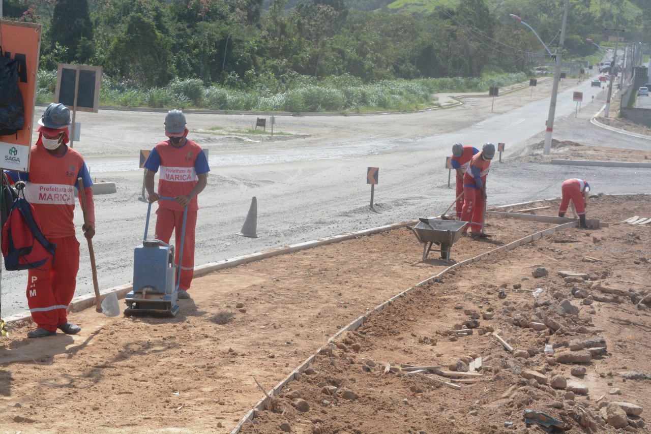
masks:
{"type": "MultiPolygon", "coordinates": [[[[534,212],[555,215],[558,202],[548,205],[534,212]]],[[[515,210],[523,208],[531,207],[515,210]]],[[[539,432],[525,427],[525,409],[562,420],[571,433],[616,432],[602,427],[600,406],[609,401],[642,407],[641,418],[629,419],[643,424],[651,407],[651,314],[649,297],[633,302],[650,293],[651,228],[612,223],[651,217],[651,198],[596,197],[588,213],[610,226],[566,229],[490,255],[372,314],[244,432],[539,432]],[[536,267],[548,275],[534,278],[536,267]],[[588,276],[568,284],[559,271],[588,276]],[[578,313],[566,313],[564,301],[578,313]],[[543,331],[532,328],[538,321],[547,324],[543,331]],[[453,331],[467,326],[467,336],[453,331]],[[546,344],[555,355],[544,353],[546,344]],[[590,357],[589,346],[605,349],[590,357]],[[562,362],[572,356],[590,360],[562,362]],[[464,369],[460,360],[477,357],[477,382],[458,390],[385,373],[387,364],[464,369]],[[586,372],[572,375],[574,368],[586,372]],[[553,378],[562,383],[556,375],[566,387],[549,386],[553,378]]],[[[494,215],[486,222],[493,237],[462,237],[451,264],[553,226],[494,215]]],[[[28,326],[14,328],[0,341],[0,432],[230,432],[262,398],[255,380],[270,390],[350,321],[447,267],[437,252],[426,261],[421,255],[415,236],[396,229],[197,278],[193,299],[180,301],[174,319],[86,310],[72,315],[83,327],[76,336],[29,340],[28,326]]]]}

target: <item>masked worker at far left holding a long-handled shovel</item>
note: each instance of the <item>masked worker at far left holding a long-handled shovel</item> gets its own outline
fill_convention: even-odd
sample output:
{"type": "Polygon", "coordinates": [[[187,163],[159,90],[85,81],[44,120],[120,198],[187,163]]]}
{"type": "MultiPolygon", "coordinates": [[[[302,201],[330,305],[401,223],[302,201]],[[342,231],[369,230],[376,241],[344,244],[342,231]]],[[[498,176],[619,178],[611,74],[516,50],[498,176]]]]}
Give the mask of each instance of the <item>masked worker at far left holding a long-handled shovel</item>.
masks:
{"type": "Polygon", "coordinates": [[[92,180],[83,157],[68,147],[70,109],[52,103],[38,120],[38,140],[31,148],[29,172],[8,172],[12,180],[25,181],[25,199],[34,210],[43,234],[57,249],[50,269],[30,269],[27,275],[27,305],[36,330],[30,338],[54,336],[57,329],[77,334],[81,327],[68,321],[66,309],[72,301],[79,271],[79,241],[73,223],[77,178],[83,180],[89,227],[82,230],[88,239],[95,234],[95,206],[92,180]]]}

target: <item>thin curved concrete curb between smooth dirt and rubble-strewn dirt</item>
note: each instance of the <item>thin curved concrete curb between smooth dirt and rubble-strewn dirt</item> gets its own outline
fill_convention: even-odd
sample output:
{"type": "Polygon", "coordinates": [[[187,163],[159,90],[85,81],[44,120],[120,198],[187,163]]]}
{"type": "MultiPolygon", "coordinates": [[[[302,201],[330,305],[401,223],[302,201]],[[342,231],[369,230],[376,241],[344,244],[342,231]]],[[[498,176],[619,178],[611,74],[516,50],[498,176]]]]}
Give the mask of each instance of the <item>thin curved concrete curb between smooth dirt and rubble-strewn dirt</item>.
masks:
{"type": "MultiPolygon", "coordinates": [[[[415,284],[411,288],[408,288],[408,289],[404,290],[403,292],[400,292],[400,293],[394,295],[393,297],[391,297],[390,299],[388,299],[387,301],[385,301],[381,305],[376,306],[376,308],[374,308],[373,310],[371,310],[367,314],[364,314],[364,315],[360,316],[359,318],[353,320],[351,323],[346,325],[346,327],[343,327],[340,331],[335,333],[331,338],[329,338],[327,340],[327,346],[326,347],[319,349],[318,351],[316,351],[316,353],[312,354],[310,357],[305,359],[305,361],[303,363],[301,363],[296,369],[294,369],[294,371],[292,371],[292,373],[290,373],[290,375],[288,375],[288,377],[283,379],[283,381],[281,381],[273,389],[271,389],[271,393],[269,394],[270,397],[276,396],[281,390],[283,390],[283,387],[285,387],[288,383],[290,383],[290,381],[298,380],[301,373],[305,372],[305,370],[314,361],[314,358],[317,355],[319,355],[320,353],[327,353],[328,351],[331,351],[331,349],[330,349],[331,345],[333,344],[333,342],[335,340],[337,340],[337,338],[342,336],[342,334],[344,334],[347,331],[355,331],[355,330],[359,329],[359,327],[361,327],[361,325],[363,325],[364,323],[366,323],[368,321],[368,318],[370,318],[370,316],[374,312],[380,312],[386,306],[392,305],[394,301],[396,301],[397,299],[400,299],[401,297],[404,297],[405,295],[407,295],[409,292],[415,290],[416,288],[419,288],[421,286],[429,284],[430,282],[445,276],[447,273],[449,273],[450,270],[456,270],[456,269],[459,269],[461,267],[464,267],[465,265],[470,265],[470,264],[473,264],[474,262],[478,262],[482,258],[484,258],[484,256],[488,256],[490,254],[493,254],[493,253],[499,252],[499,251],[510,251],[510,250],[516,249],[516,248],[518,248],[519,246],[521,246],[523,244],[531,243],[532,241],[536,241],[536,239],[540,239],[540,238],[542,238],[544,236],[547,236],[549,234],[553,234],[554,232],[557,232],[559,230],[564,230],[564,229],[567,229],[567,228],[573,228],[573,227],[577,226],[577,224],[578,223],[576,221],[572,221],[572,222],[569,222],[569,223],[563,223],[563,224],[559,224],[558,226],[554,226],[553,228],[548,228],[546,230],[536,232],[535,234],[532,234],[532,235],[529,235],[529,236],[526,236],[526,237],[523,237],[523,238],[520,238],[520,239],[516,239],[516,241],[512,241],[511,243],[508,243],[506,245],[497,247],[497,249],[493,249],[491,251],[484,252],[482,254],[478,254],[477,256],[474,256],[473,258],[469,258],[469,259],[467,259],[465,261],[458,262],[457,264],[450,265],[450,267],[447,267],[446,269],[441,271],[441,273],[438,273],[436,276],[432,276],[430,278],[422,280],[422,282],[419,282],[419,283],[415,284]]],[[[255,405],[255,407],[253,407],[253,409],[249,410],[245,414],[245,416],[243,416],[242,420],[240,420],[240,422],[237,424],[237,426],[234,427],[234,429],[232,429],[232,431],[230,431],[230,433],[231,434],[240,433],[240,430],[242,429],[243,424],[246,424],[248,422],[252,422],[253,419],[255,419],[258,416],[258,413],[266,408],[266,405],[267,405],[269,400],[271,400],[271,398],[267,398],[265,396],[260,401],[258,401],[258,403],[255,405]]]]}

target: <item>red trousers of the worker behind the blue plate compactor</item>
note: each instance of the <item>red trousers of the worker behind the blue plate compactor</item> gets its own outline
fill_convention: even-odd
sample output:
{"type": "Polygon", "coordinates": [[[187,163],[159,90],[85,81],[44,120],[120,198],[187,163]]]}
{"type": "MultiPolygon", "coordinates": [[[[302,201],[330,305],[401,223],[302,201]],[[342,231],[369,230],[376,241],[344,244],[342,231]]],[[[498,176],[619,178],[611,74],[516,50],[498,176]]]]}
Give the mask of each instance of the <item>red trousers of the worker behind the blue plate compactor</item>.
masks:
{"type": "MultiPolygon", "coordinates": [[[[183,211],[158,208],[156,211],[156,238],[168,243],[174,232],[174,264],[178,264],[181,235],[183,233],[183,211]]],[[[178,287],[187,290],[191,283],[195,266],[195,228],[197,226],[197,211],[187,211],[186,238],[183,243],[183,263],[181,264],[181,279],[178,287]]],[[[176,283],[176,281],[174,282],[176,283]]]]}

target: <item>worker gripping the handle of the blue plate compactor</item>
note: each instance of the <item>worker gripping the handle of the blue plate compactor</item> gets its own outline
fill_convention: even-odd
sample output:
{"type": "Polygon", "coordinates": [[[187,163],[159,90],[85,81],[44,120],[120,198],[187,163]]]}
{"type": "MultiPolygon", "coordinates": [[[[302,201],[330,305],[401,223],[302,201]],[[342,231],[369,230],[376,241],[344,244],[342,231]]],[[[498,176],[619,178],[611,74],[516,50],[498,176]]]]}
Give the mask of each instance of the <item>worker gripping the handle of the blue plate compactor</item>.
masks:
{"type": "Polygon", "coordinates": [[[157,144],[145,161],[145,188],[149,202],[158,200],[156,215],[156,239],[169,243],[172,232],[176,238],[174,261],[178,256],[183,232],[184,208],[187,206],[186,236],[183,243],[183,258],[180,264],[180,299],[189,299],[187,292],[192,283],[195,267],[195,227],[197,226],[197,195],[208,183],[208,159],[197,142],[186,138],[186,115],[180,110],[170,110],[165,116],[165,135],[169,140],[157,144]],[[158,176],[158,193],[154,192],[154,174],[158,176]],[[173,197],[174,200],[159,200],[173,197]]]}

